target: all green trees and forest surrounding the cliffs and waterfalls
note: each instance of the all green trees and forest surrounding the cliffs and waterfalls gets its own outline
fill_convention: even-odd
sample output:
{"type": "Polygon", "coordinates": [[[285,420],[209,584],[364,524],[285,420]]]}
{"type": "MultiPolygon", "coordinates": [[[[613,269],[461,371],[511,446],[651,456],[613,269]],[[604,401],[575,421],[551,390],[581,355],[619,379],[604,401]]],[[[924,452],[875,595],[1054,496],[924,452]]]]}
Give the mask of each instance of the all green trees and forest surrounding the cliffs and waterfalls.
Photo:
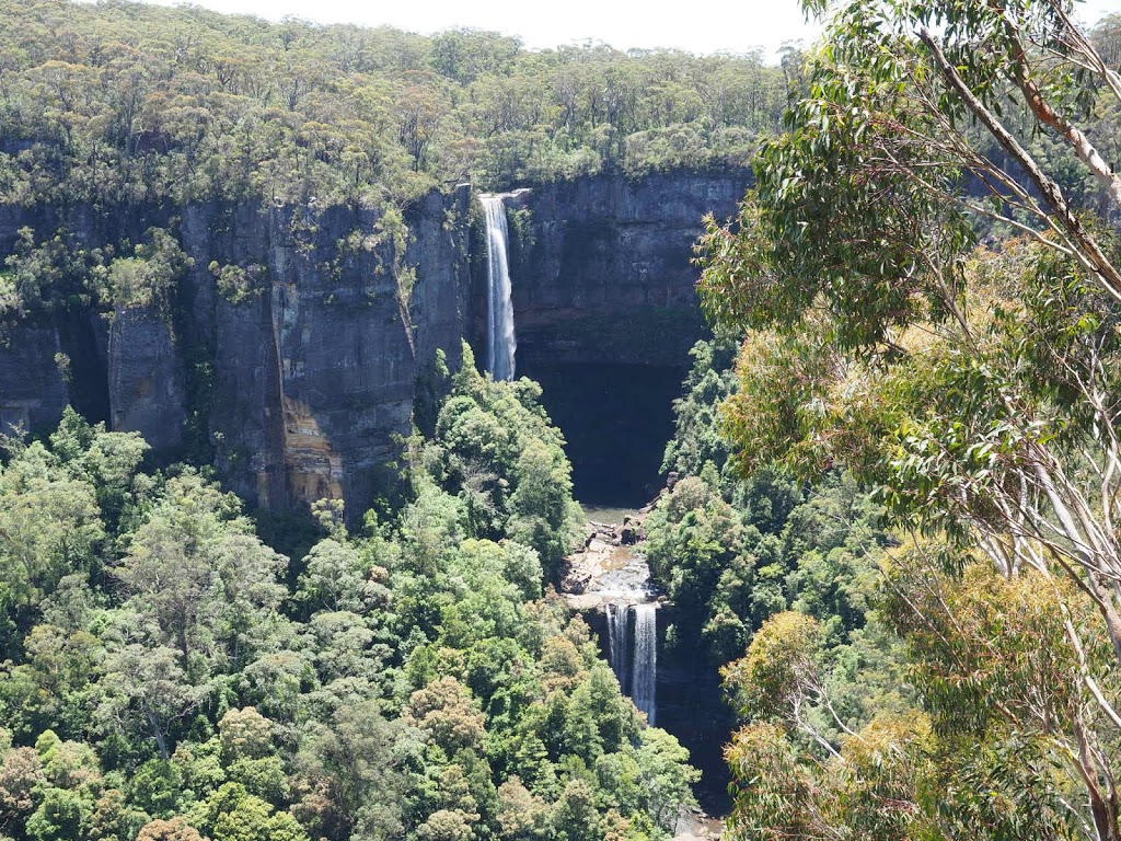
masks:
{"type": "MultiPolygon", "coordinates": [[[[664,657],[723,684],[728,835],[1121,841],[1121,19],[804,6],[823,44],[768,67],[0,0],[0,203],[404,238],[460,181],[750,164],[641,547],[664,657]]],[[[159,309],[174,227],[26,230],[0,315],[159,309]]],[[[302,525],[73,410],[2,442],[0,838],[670,835],[698,774],[550,586],[563,433],[463,358],[396,497],[302,525]]]]}

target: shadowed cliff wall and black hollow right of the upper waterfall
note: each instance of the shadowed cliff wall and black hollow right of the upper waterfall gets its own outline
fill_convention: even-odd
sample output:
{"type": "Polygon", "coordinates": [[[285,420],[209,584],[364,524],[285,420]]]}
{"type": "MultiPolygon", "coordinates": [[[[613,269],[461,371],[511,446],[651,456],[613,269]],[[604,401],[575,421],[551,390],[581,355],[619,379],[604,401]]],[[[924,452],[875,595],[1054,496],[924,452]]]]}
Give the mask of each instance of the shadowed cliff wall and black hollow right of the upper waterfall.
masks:
{"type": "Polygon", "coordinates": [[[544,388],[581,501],[638,507],[661,486],[673,400],[707,334],[693,243],[750,177],[582,178],[507,198],[517,370],[544,388]]]}

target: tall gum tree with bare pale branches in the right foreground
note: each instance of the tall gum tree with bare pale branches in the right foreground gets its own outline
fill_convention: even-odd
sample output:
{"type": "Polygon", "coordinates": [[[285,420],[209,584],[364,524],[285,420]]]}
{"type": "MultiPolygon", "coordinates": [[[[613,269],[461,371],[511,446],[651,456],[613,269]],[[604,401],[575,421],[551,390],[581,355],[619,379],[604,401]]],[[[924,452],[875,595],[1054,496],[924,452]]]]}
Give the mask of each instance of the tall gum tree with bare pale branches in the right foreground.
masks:
{"type": "Polygon", "coordinates": [[[751,331],[739,459],[853,470],[905,528],[1053,588],[1082,695],[1049,738],[1087,834],[1121,838],[1121,264],[1072,198],[1074,174],[1121,211],[1093,140],[1117,70],[1059,0],[804,6],[831,16],[808,95],[698,247],[707,312],[751,331]]]}

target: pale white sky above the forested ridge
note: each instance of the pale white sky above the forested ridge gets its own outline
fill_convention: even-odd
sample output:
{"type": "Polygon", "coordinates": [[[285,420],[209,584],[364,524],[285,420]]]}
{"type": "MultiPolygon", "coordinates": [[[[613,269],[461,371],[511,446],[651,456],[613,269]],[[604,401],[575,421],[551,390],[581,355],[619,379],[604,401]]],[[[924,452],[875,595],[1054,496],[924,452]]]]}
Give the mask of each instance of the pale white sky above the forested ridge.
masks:
{"type": "MultiPolygon", "coordinates": [[[[174,0],[154,0],[174,4],[174,0]]],[[[432,34],[452,27],[519,36],[544,49],[592,39],[618,49],[676,48],[691,53],[747,53],[762,47],[773,59],[785,41],[809,46],[797,0],[195,0],[222,12],[270,20],[294,16],[321,24],[389,25],[432,34]]],[[[1087,0],[1085,21],[1121,11],[1121,0],[1087,0]]]]}

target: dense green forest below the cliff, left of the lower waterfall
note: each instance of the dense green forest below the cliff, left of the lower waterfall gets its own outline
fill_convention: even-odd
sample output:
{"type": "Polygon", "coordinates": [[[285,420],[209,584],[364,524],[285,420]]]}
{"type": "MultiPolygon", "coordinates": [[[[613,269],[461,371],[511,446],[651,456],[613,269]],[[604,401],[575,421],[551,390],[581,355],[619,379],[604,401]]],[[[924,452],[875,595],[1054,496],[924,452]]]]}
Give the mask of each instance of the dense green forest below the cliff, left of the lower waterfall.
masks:
{"type": "Polygon", "coordinates": [[[467,363],[407,505],[289,560],[189,468],[67,413],[6,442],[0,832],[665,838],[696,773],[543,598],[578,517],[528,380],[467,363]]]}

